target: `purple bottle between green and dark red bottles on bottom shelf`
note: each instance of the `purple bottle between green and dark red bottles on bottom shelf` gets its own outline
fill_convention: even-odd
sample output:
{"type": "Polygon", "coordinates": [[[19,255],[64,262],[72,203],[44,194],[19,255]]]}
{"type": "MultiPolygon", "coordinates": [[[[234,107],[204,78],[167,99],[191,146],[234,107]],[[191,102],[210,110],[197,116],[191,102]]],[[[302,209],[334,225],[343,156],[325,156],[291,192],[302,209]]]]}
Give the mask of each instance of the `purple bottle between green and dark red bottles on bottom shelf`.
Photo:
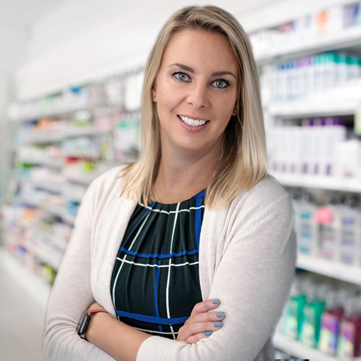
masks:
{"type": "Polygon", "coordinates": [[[318,349],[326,355],[335,356],[343,308],[338,305],[335,291],[328,291],[325,299],[326,306],[321,316],[318,349]]]}

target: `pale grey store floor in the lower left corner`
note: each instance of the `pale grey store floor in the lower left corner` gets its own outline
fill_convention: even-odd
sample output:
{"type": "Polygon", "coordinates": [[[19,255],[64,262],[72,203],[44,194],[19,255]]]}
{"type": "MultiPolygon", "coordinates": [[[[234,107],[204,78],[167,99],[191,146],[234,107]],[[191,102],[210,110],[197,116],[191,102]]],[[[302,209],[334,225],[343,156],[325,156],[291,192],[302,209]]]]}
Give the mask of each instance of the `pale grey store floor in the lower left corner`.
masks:
{"type": "Polygon", "coordinates": [[[0,359],[43,361],[45,310],[0,267],[0,359]]]}

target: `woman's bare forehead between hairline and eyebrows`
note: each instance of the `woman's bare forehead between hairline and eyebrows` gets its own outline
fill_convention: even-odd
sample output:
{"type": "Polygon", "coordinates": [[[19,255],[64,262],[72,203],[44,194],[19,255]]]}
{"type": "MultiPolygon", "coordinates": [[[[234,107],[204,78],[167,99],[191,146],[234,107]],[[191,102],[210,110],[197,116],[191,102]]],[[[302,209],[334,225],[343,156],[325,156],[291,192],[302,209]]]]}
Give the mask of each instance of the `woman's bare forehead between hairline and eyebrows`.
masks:
{"type": "Polygon", "coordinates": [[[202,66],[210,71],[236,71],[237,63],[225,35],[215,31],[180,30],[164,49],[162,65],[181,63],[195,71],[202,66]]]}

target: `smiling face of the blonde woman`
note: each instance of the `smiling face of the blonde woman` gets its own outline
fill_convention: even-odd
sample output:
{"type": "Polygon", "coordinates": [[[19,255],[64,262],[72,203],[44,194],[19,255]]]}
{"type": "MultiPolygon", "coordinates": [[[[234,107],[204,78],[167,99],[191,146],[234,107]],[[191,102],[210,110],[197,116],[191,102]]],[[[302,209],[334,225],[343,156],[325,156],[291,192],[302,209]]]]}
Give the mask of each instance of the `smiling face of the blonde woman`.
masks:
{"type": "Polygon", "coordinates": [[[219,149],[230,117],[236,115],[237,69],[225,36],[200,30],[173,34],[152,89],[163,150],[219,149]]]}

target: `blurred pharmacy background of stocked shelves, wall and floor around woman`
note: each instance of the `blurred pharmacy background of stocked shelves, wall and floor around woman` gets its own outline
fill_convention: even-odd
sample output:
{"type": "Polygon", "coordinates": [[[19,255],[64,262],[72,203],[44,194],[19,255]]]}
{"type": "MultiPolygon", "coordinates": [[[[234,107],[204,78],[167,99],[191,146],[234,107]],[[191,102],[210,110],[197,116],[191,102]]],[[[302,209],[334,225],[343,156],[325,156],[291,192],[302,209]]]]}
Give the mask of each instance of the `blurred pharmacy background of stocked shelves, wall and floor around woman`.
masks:
{"type": "MultiPolygon", "coordinates": [[[[361,360],[361,2],[210,3],[251,40],[269,173],[293,202],[297,269],[276,356],[361,360]]],[[[44,360],[45,307],[81,198],[138,158],[145,62],[186,5],[1,1],[1,360],[44,360]]]]}

